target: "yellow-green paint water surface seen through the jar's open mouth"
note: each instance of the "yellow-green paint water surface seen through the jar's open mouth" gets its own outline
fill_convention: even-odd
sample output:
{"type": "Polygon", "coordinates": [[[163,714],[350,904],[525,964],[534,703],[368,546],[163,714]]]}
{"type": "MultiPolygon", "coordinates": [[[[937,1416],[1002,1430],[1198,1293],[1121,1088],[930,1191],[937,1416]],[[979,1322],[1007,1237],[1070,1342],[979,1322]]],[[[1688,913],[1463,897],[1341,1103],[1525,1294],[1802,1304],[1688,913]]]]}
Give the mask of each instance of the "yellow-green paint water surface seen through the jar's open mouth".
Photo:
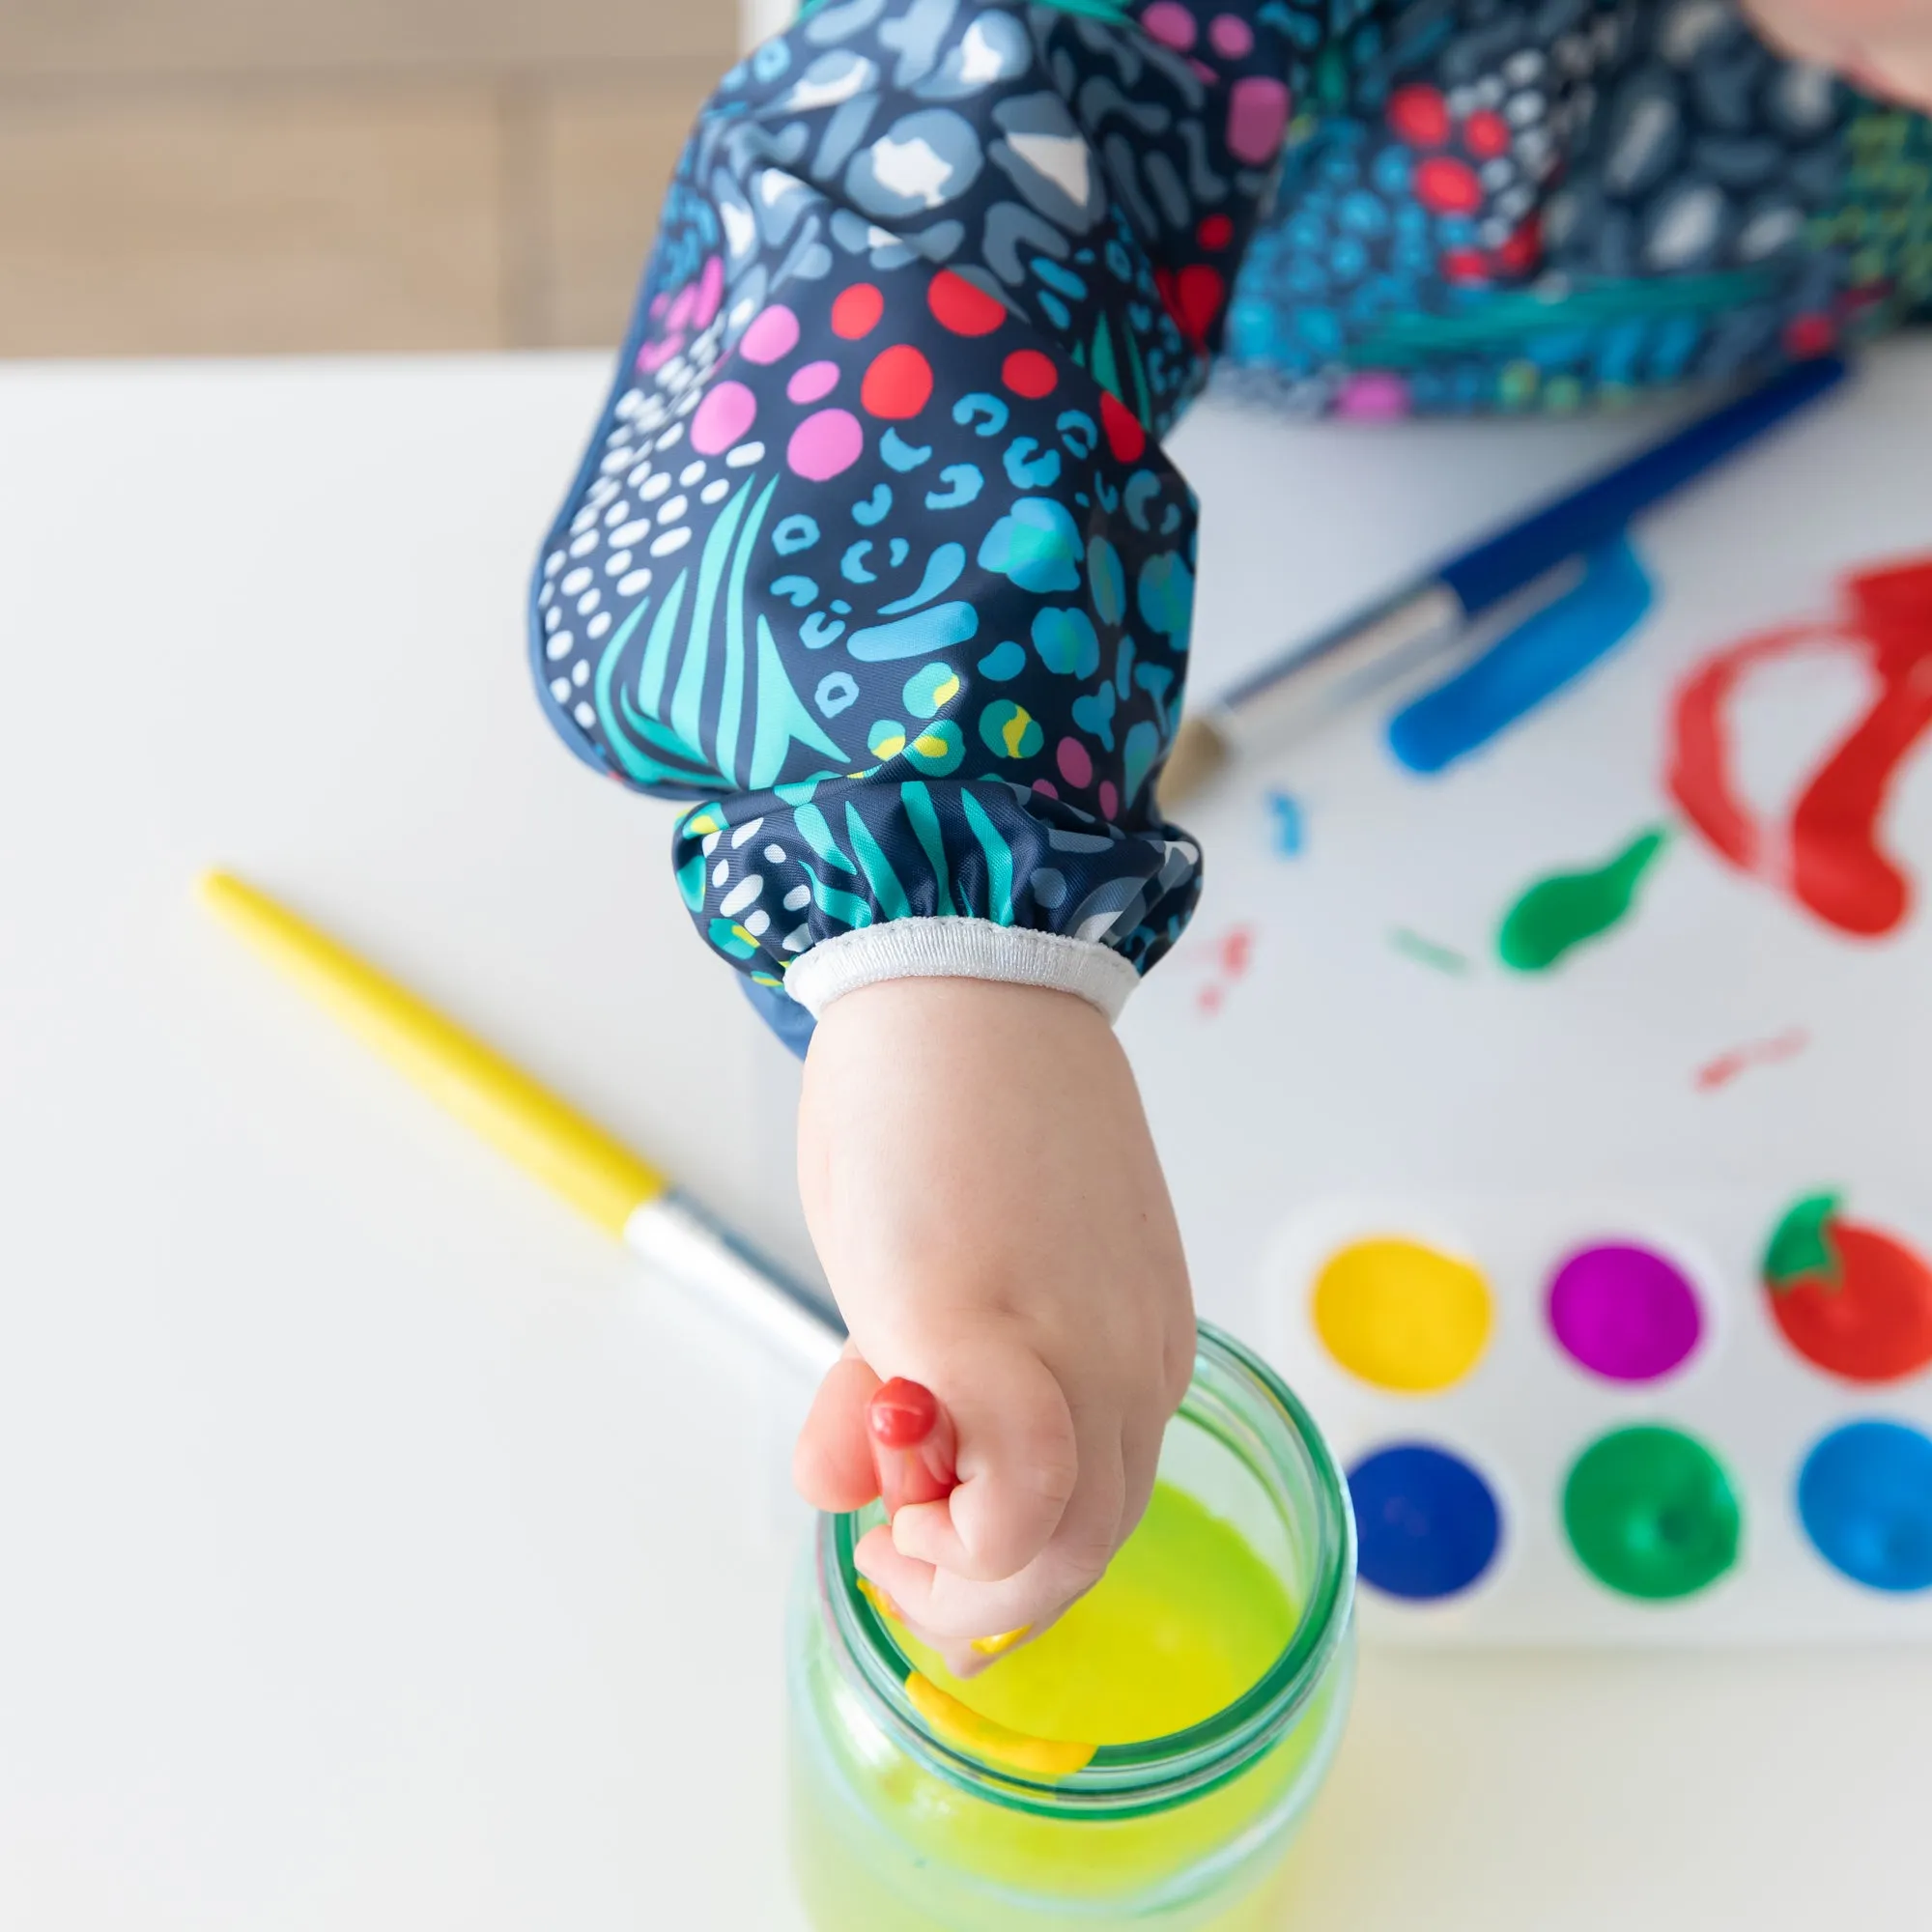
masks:
{"type": "Polygon", "coordinates": [[[1092,1756],[1095,1745],[1167,1737],[1225,1710],[1289,1646],[1294,1621],[1281,1580],[1240,1532],[1161,1482],[1107,1575],[978,1677],[952,1677],[937,1654],[895,1634],[949,1708],[1007,1737],[1092,1756]]]}

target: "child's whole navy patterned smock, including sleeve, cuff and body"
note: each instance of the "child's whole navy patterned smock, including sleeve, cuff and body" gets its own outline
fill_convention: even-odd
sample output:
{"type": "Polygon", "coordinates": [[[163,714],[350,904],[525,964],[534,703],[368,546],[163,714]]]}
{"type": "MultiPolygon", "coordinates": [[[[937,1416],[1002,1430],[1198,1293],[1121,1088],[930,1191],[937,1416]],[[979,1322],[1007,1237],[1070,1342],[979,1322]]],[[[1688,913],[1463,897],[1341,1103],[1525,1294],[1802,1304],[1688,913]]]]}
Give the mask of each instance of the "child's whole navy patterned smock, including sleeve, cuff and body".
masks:
{"type": "Polygon", "coordinates": [[[1729,0],[825,0],[678,164],[545,705],[690,802],[684,902],[794,1043],[904,922],[1101,997],[1200,889],[1161,437],[1211,357],[1349,415],[1768,373],[1932,296],[1928,164],[1729,0]]]}

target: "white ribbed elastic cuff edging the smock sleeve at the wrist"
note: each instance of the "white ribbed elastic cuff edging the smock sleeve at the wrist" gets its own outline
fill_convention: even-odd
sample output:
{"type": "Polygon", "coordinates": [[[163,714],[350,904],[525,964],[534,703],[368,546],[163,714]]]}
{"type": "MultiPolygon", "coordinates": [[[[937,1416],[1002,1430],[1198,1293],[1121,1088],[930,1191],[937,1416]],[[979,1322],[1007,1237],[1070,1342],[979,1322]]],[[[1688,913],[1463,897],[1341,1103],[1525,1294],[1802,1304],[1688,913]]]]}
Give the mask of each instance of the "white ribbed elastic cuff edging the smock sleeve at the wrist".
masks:
{"type": "Polygon", "coordinates": [[[1066,933],[1037,933],[991,920],[887,920],[821,939],[792,962],[784,989],[813,1018],[844,993],[881,980],[1005,980],[1078,993],[1109,1020],[1121,1018],[1140,974],[1113,951],[1066,933]]]}

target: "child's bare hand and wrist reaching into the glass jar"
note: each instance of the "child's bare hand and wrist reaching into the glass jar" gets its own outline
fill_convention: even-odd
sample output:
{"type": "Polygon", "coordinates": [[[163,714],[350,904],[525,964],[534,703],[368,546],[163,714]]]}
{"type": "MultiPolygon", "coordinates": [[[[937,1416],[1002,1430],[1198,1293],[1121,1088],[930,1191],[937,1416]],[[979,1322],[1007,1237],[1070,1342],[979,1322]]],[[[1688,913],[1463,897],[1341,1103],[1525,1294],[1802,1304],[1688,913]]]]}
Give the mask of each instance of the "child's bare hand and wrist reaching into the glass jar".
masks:
{"type": "Polygon", "coordinates": [[[960,1484],[860,1569],[954,1669],[1039,1629],[1146,1509],[1194,1368],[1167,1184],[1107,1020],[1070,993],[891,980],[837,1001],[806,1061],[798,1180],[852,1329],[798,1441],[819,1509],[879,1493],[866,1403],[925,1383],[960,1484]]]}

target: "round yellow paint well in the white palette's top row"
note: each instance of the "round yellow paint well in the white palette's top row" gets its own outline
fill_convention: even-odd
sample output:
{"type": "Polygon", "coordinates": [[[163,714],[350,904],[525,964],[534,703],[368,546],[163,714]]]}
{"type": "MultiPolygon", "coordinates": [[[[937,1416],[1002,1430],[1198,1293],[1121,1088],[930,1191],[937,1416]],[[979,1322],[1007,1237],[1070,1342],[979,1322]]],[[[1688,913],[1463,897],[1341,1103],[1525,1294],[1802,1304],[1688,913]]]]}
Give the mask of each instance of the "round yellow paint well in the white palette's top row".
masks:
{"type": "Polygon", "coordinates": [[[1316,1277],[1314,1323],[1329,1354],[1378,1389],[1420,1395],[1461,1381],[1490,1341],[1490,1285],[1416,1240],[1358,1240],[1316,1277]]]}

